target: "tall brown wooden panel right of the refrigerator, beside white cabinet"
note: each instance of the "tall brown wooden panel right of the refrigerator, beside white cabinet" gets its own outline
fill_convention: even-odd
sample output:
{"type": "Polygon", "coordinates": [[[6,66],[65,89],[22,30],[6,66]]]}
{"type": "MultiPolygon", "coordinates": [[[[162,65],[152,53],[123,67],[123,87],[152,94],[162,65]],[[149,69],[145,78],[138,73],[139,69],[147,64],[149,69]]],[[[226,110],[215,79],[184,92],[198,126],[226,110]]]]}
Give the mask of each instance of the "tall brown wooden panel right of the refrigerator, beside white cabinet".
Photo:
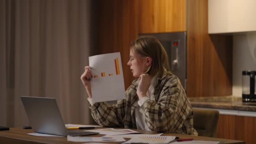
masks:
{"type": "Polygon", "coordinates": [[[208,1],[187,1],[187,96],[232,95],[232,36],[208,35],[208,1]]]}

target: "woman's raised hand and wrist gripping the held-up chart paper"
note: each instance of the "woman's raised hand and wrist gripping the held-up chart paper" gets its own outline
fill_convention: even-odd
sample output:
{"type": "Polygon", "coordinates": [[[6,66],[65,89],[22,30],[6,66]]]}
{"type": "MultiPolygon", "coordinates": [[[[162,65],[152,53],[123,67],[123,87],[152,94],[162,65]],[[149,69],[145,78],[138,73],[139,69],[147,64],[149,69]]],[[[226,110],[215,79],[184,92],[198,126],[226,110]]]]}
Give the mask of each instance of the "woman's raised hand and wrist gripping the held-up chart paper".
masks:
{"type": "Polygon", "coordinates": [[[85,86],[85,89],[88,93],[88,97],[91,99],[91,67],[86,66],[85,67],[85,72],[81,75],[81,80],[83,82],[83,85],[85,86]]]}

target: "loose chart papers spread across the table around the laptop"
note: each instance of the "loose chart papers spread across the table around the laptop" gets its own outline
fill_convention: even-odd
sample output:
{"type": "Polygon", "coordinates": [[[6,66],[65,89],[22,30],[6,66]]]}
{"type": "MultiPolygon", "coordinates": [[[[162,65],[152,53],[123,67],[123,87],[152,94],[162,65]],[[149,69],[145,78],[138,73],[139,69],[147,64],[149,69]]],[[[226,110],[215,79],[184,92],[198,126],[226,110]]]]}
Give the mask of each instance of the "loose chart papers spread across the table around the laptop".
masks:
{"type": "MultiPolygon", "coordinates": [[[[86,127],[94,126],[101,127],[97,125],[73,125],[67,124],[66,127],[86,127]]],[[[99,132],[100,134],[105,134],[102,137],[87,137],[87,136],[67,136],[68,141],[75,142],[108,142],[116,141],[123,142],[123,138],[131,138],[128,141],[123,142],[122,144],[131,144],[131,143],[147,143],[147,144],[219,144],[219,141],[176,141],[176,136],[161,136],[163,133],[159,134],[138,134],[140,132],[133,131],[131,129],[114,129],[114,128],[105,128],[98,130],[88,130],[92,132],[99,132]]],[[[28,133],[33,136],[56,136],[43,133],[28,133]]]]}

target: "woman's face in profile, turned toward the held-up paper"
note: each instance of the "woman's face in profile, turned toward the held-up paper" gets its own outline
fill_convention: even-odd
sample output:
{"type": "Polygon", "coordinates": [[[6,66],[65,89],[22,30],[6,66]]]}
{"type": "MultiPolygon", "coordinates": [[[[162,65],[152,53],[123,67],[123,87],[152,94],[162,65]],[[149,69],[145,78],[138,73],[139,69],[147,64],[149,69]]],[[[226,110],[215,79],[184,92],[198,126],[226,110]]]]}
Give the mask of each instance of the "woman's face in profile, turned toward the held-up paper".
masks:
{"type": "Polygon", "coordinates": [[[144,72],[144,69],[146,69],[147,66],[143,58],[130,50],[130,60],[127,65],[130,66],[133,77],[139,77],[144,72]]]}

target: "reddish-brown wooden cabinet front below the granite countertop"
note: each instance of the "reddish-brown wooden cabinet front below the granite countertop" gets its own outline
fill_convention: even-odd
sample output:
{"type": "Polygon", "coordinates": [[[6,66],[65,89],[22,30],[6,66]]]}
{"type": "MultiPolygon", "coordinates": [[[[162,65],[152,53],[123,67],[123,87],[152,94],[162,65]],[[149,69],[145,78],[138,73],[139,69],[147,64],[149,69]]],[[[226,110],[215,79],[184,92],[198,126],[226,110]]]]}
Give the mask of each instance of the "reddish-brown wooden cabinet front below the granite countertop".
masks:
{"type": "Polygon", "coordinates": [[[256,144],[256,117],[219,115],[217,138],[256,144]]]}

